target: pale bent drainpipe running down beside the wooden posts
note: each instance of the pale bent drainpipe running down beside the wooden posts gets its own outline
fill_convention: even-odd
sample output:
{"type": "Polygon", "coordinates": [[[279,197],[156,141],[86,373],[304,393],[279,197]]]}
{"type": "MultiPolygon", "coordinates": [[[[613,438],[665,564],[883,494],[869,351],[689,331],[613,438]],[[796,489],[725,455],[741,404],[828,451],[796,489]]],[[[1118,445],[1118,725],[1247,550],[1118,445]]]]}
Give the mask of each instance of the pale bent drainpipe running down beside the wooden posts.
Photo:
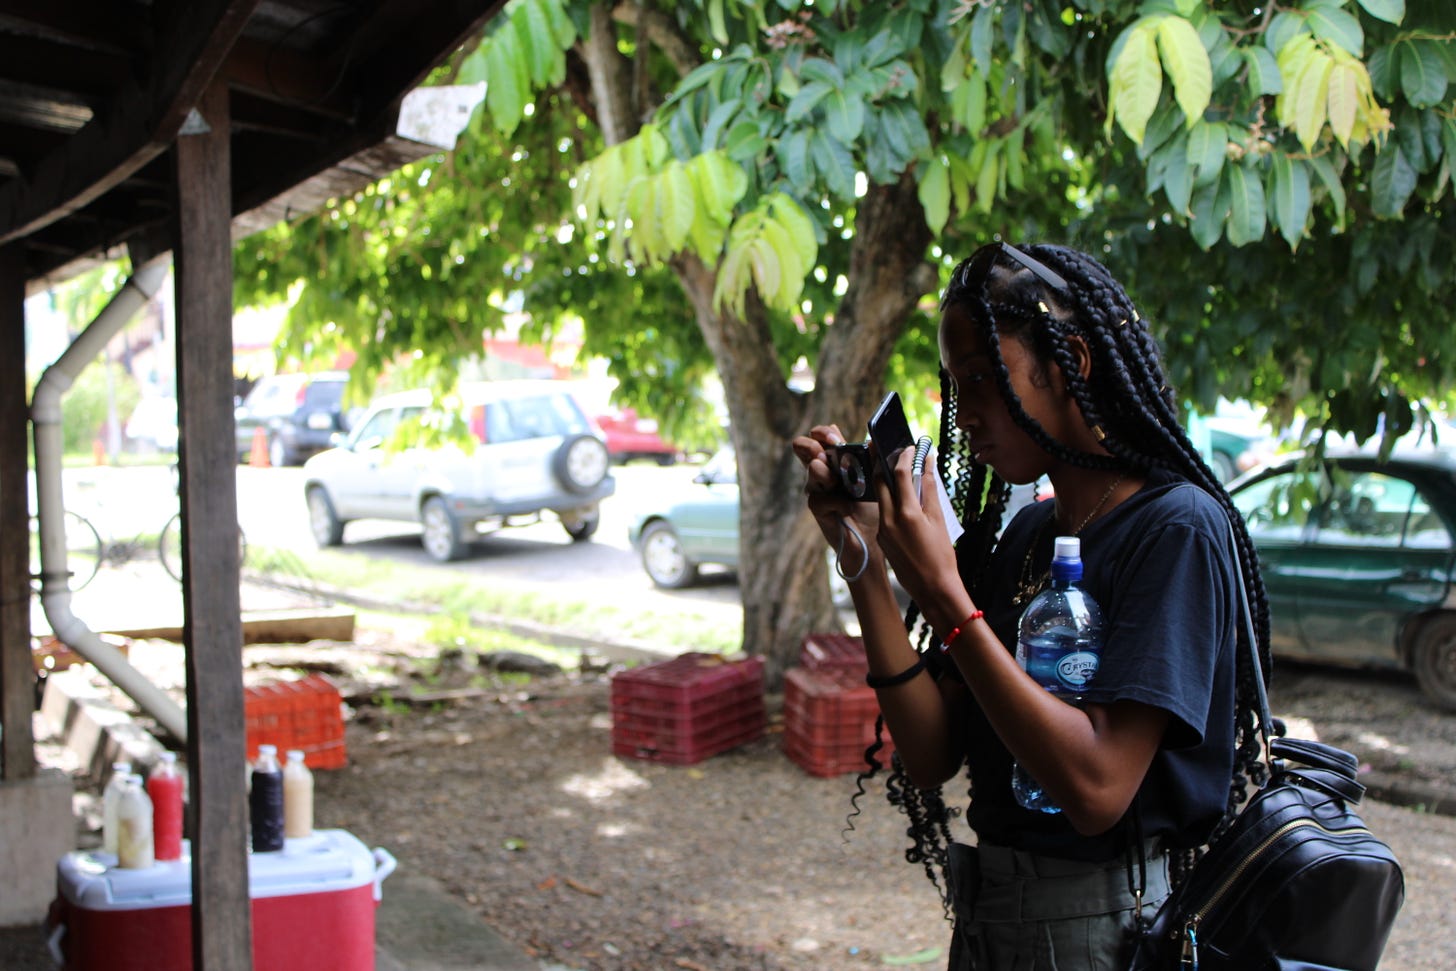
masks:
{"type": "Polygon", "coordinates": [[[41,607],[51,630],[68,648],[96,665],[141,709],[186,741],[186,713],[172,696],[149,681],[114,646],[100,639],[71,613],[71,588],[66,562],[66,502],[61,496],[61,397],[106,342],[147,304],[167,275],[167,256],[159,256],[137,269],[111,298],[96,319],[66,352],[45,370],[31,396],[31,424],[35,435],[35,508],[41,537],[41,607]]]}

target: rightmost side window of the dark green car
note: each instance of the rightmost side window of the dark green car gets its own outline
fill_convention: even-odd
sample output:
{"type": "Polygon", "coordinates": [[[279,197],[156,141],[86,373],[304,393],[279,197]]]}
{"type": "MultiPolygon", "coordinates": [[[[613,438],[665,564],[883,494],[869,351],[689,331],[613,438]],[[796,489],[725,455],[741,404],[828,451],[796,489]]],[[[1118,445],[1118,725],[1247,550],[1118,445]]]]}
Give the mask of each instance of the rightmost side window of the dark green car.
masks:
{"type": "Polygon", "coordinates": [[[1321,511],[1318,542],[1331,546],[1446,549],[1450,536],[1408,479],[1382,472],[1335,477],[1321,511]]]}

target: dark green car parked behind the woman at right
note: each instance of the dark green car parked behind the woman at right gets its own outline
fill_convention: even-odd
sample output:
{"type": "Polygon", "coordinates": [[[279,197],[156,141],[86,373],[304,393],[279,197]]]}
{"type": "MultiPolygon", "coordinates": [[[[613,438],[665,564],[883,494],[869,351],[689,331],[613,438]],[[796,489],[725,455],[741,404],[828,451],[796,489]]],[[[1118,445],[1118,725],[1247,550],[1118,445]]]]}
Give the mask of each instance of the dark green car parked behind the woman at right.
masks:
{"type": "Polygon", "coordinates": [[[1456,710],[1456,451],[1291,459],[1230,492],[1259,553],[1275,655],[1411,671],[1456,710]]]}

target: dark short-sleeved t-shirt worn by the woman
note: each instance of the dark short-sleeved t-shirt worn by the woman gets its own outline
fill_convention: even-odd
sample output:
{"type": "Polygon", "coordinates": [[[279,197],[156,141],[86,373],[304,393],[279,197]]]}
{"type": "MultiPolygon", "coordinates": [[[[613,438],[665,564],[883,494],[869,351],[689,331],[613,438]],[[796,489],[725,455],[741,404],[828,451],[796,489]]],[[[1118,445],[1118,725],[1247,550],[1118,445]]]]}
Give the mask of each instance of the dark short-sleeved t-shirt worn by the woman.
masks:
{"type": "MultiPolygon", "coordinates": [[[[1016,648],[1028,544],[1032,575],[1051,560],[1053,502],[1022,510],[992,558],[978,598],[992,629],[1016,648]],[[1047,527],[1047,528],[1044,528],[1047,527]]],[[[1130,499],[1082,531],[1082,588],[1102,607],[1107,639],[1086,702],[1134,700],[1172,715],[1139,792],[1144,837],[1201,844],[1224,811],[1233,770],[1238,581],[1223,507],[1203,489],[1150,473],[1130,499]]],[[[983,843],[1066,859],[1120,856],[1127,830],[1077,834],[1063,814],[1022,809],[1010,792],[1010,754],[970,703],[968,763],[974,798],[968,821],[983,843]]]]}

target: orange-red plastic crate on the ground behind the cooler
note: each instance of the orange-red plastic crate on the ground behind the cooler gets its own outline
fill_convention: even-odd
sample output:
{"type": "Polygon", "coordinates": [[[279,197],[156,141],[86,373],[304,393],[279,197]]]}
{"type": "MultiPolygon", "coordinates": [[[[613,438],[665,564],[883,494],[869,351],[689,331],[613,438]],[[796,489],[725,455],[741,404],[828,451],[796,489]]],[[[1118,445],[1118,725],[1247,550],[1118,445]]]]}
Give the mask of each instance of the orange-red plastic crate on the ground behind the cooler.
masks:
{"type": "Polygon", "coordinates": [[[338,769],[348,763],[344,700],[339,689],[322,674],[245,689],[243,718],[249,761],[258,757],[259,745],[277,745],[280,760],[297,748],[310,769],[338,769]]]}

